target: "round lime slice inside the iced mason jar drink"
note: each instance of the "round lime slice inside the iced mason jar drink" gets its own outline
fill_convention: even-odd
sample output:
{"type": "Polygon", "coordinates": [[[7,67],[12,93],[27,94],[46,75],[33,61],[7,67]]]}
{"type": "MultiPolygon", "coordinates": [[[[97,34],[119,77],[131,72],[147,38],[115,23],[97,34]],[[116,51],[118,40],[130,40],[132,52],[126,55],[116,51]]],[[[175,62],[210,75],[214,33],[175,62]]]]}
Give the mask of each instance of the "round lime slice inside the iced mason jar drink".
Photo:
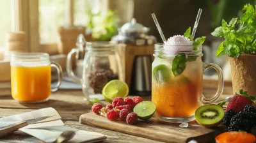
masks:
{"type": "Polygon", "coordinates": [[[152,74],[156,82],[166,82],[170,79],[171,72],[165,64],[159,64],[153,69],[152,74]]]}

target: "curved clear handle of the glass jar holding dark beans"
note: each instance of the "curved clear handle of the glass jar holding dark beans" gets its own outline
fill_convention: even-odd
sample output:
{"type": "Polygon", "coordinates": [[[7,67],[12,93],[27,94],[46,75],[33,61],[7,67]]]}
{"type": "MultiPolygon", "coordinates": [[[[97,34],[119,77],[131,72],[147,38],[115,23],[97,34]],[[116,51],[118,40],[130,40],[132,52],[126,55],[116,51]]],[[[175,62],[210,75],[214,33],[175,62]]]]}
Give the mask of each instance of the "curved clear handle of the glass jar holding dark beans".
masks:
{"type": "Polygon", "coordinates": [[[72,49],[70,50],[70,52],[68,53],[67,56],[67,74],[68,77],[71,77],[77,84],[82,84],[82,79],[80,79],[79,77],[77,77],[73,70],[72,70],[72,55],[74,53],[77,52],[78,49],[72,49]]]}

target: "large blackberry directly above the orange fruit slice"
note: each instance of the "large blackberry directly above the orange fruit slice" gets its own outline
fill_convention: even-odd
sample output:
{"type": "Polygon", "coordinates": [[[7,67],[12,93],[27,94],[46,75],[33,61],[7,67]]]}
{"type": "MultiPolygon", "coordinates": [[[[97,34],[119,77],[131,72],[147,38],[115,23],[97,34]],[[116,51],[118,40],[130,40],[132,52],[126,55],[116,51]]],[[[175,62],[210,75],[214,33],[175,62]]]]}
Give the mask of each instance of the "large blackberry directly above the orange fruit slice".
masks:
{"type": "Polygon", "coordinates": [[[231,122],[230,126],[228,126],[228,131],[239,130],[250,133],[252,131],[252,121],[244,119],[243,117],[238,117],[236,121],[231,122]]]}

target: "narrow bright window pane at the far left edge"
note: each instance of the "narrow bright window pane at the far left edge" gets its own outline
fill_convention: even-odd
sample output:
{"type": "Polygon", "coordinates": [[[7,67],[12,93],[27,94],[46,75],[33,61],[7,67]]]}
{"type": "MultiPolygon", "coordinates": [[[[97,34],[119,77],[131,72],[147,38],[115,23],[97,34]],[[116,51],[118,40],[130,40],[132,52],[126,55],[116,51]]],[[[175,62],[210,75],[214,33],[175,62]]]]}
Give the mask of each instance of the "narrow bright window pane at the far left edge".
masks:
{"type": "Polygon", "coordinates": [[[0,28],[0,50],[3,50],[5,33],[12,31],[12,1],[10,0],[1,0],[0,28]]]}

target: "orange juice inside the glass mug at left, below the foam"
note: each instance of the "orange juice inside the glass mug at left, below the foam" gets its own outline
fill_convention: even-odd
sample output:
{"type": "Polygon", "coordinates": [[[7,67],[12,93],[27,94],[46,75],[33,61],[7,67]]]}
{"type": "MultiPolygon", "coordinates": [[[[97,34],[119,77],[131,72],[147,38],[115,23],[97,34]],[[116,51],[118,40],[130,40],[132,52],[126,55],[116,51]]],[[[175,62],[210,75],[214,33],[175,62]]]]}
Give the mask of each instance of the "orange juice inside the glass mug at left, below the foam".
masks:
{"type": "Polygon", "coordinates": [[[51,95],[51,66],[11,66],[12,97],[19,101],[42,101],[51,95]]]}

